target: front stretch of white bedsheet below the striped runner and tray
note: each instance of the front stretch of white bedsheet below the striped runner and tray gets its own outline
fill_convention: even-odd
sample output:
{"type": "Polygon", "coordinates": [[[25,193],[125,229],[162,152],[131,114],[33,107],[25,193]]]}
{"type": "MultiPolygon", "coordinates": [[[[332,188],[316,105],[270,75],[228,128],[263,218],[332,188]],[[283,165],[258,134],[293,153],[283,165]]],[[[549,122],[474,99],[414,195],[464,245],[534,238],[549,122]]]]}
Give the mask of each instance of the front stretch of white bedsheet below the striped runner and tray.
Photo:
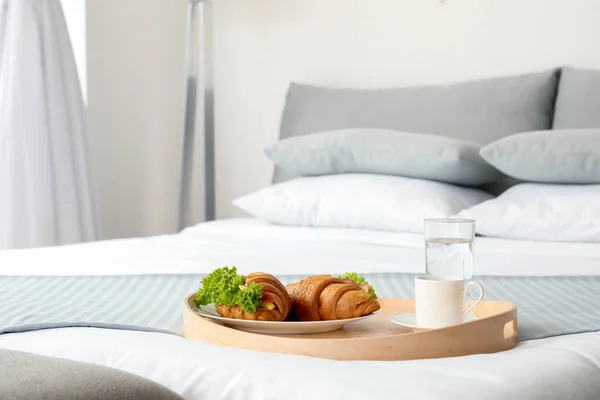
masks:
{"type": "Polygon", "coordinates": [[[187,399],[597,400],[600,393],[595,333],[491,355],[403,362],[339,362],[91,328],[3,335],[0,346],[119,368],[187,399]]]}

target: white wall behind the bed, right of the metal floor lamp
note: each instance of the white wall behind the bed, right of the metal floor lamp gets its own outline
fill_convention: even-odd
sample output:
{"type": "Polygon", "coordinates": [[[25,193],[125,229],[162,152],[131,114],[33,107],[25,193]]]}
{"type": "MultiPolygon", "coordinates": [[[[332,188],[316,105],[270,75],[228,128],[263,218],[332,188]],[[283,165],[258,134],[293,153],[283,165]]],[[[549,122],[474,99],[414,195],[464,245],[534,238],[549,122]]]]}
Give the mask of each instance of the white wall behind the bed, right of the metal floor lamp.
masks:
{"type": "Polygon", "coordinates": [[[596,0],[223,0],[215,3],[217,212],[268,185],[291,80],[373,87],[571,64],[600,69],[596,0]]]}

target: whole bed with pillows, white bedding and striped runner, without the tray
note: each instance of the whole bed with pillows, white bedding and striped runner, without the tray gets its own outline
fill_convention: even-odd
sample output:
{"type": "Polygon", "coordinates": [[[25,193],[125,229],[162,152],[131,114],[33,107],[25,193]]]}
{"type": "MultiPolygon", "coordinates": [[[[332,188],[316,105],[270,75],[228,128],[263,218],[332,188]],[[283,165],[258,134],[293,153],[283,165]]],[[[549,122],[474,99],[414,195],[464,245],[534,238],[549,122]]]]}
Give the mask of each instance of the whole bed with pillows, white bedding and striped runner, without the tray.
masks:
{"type": "Polygon", "coordinates": [[[186,399],[598,399],[600,130],[569,130],[583,112],[569,106],[577,82],[589,74],[384,90],[294,84],[282,144],[267,149],[275,184],[235,202],[253,218],[1,252],[0,348],[113,367],[186,399]],[[357,127],[368,128],[357,136],[357,127]],[[404,133],[390,139],[374,129],[404,133]],[[492,146],[486,161],[498,170],[479,146],[492,146]],[[545,153],[532,157],[532,148],[545,153]],[[577,158],[582,148],[586,159],[577,158]],[[474,278],[486,299],[519,306],[513,350],[339,362],[181,336],[184,296],[223,266],[284,283],[353,271],[382,297],[410,297],[412,277],[425,270],[423,219],[453,215],[477,221],[474,278]]]}

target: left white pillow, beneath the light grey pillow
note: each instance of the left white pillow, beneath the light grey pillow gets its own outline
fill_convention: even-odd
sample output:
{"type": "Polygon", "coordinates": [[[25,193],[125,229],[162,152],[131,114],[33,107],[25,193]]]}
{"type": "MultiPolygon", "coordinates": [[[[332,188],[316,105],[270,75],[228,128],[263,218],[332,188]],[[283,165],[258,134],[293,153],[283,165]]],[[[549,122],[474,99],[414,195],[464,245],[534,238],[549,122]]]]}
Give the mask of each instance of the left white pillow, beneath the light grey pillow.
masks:
{"type": "Polygon", "coordinates": [[[302,177],[266,187],[233,204],[280,225],[423,232],[425,218],[444,218],[493,196],[478,189],[399,176],[302,177]]]}

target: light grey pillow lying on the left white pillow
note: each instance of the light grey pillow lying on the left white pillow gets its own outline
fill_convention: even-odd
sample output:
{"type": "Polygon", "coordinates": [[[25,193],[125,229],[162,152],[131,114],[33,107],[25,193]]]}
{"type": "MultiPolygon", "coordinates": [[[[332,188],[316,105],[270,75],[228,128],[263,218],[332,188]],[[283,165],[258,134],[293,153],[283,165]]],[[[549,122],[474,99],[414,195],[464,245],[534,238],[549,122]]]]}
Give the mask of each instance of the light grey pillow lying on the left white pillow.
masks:
{"type": "Polygon", "coordinates": [[[439,135],[357,128],[284,139],[265,154],[298,175],[372,173],[477,186],[501,176],[479,149],[439,135]]]}

